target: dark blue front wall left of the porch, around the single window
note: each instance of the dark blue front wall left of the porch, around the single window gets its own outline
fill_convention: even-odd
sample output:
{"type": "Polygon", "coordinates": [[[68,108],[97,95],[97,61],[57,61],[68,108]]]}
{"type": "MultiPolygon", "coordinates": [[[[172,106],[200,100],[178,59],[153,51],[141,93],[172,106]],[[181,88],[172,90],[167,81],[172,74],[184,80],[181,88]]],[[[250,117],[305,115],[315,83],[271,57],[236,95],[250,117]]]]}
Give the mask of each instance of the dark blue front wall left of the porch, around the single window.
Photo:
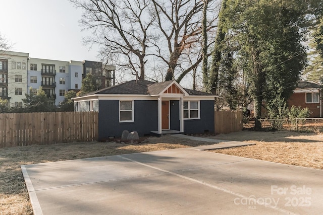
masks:
{"type": "Polygon", "coordinates": [[[134,122],[119,122],[119,100],[99,101],[98,138],[120,137],[123,130],[139,136],[158,130],[158,101],[134,101],[134,122]]]}

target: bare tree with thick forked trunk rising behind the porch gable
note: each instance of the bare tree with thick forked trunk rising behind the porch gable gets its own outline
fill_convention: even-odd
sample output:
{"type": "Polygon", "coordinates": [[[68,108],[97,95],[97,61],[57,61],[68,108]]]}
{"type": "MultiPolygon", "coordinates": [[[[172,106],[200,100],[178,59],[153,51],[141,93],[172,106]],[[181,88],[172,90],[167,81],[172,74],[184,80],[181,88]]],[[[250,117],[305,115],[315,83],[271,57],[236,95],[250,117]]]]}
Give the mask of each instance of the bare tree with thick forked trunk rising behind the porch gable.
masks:
{"type": "MultiPolygon", "coordinates": [[[[213,2],[212,0],[206,1],[207,4],[213,2]]],[[[175,79],[175,68],[179,67],[180,75],[177,78],[179,82],[202,60],[202,57],[198,56],[198,49],[201,44],[201,19],[204,3],[201,0],[151,0],[151,2],[156,15],[156,31],[160,31],[163,36],[159,43],[153,44],[156,50],[154,55],[168,65],[165,80],[175,79]],[[197,52],[188,53],[187,49],[194,46],[199,46],[196,49],[197,52]],[[182,57],[185,53],[196,56],[193,64],[182,63],[187,61],[182,57]]],[[[213,12],[214,9],[215,7],[213,12]]],[[[216,13],[211,14],[212,17],[206,23],[206,31],[215,27],[214,21],[217,16],[214,16],[216,13]]],[[[212,41],[211,38],[210,41],[212,41]]]]}

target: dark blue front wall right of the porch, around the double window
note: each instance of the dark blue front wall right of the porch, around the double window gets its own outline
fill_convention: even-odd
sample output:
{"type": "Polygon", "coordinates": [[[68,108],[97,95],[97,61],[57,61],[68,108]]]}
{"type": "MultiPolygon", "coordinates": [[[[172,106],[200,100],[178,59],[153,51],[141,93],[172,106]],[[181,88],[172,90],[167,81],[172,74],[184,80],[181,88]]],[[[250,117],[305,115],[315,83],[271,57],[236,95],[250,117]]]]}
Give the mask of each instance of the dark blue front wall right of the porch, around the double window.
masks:
{"type": "Polygon", "coordinates": [[[184,120],[184,133],[214,132],[214,101],[200,101],[200,119],[184,120]]]}

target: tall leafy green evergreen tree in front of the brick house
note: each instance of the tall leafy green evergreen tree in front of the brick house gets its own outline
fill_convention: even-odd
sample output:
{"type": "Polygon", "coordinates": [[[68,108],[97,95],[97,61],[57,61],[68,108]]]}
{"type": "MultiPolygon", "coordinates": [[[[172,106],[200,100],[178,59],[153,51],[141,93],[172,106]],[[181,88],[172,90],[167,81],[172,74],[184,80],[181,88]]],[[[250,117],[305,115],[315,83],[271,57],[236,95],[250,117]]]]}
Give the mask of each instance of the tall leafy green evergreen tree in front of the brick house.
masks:
{"type": "Polygon", "coordinates": [[[228,0],[225,22],[235,34],[237,56],[254,101],[255,129],[261,128],[263,101],[287,100],[305,65],[307,6],[301,1],[228,0]]]}

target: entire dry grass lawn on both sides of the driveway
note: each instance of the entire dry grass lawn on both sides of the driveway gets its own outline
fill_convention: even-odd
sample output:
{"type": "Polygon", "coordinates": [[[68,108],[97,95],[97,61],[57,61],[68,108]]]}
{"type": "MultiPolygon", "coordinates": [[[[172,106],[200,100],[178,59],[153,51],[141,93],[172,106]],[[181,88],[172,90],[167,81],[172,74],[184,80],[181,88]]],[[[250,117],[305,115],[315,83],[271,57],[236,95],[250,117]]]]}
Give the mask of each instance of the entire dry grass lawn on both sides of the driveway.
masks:
{"type": "MultiPolygon", "coordinates": [[[[208,138],[254,142],[255,146],[213,150],[247,158],[323,169],[323,135],[288,131],[241,131],[208,138]]],[[[144,144],[112,142],[76,142],[48,146],[0,149],[0,215],[32,214],[29,196],[20,166],[52,161],[129,154],[209,145],[172,136],[149,137],[144,144]]]]}

